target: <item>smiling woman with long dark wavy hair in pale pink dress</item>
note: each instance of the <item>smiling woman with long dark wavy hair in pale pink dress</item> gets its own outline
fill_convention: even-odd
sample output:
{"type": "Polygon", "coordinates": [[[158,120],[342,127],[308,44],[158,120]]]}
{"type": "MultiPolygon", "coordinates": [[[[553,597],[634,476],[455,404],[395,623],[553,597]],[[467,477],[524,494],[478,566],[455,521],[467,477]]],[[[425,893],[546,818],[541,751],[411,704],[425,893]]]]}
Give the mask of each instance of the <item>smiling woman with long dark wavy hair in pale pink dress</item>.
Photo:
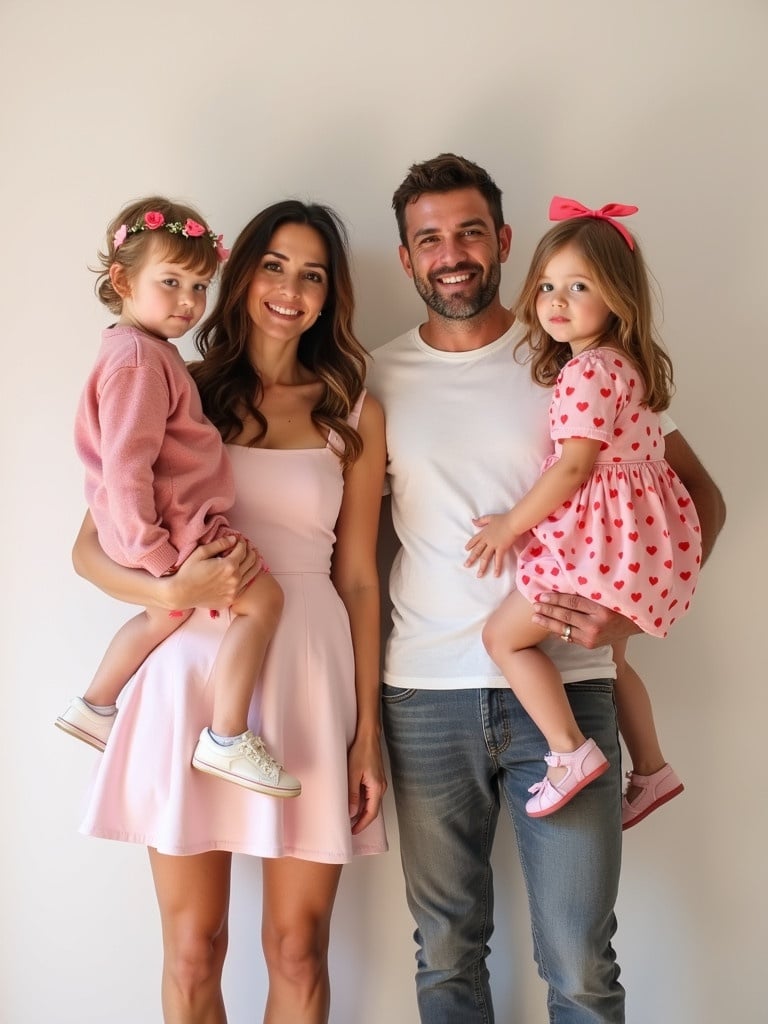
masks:
{"type": "Polygon", "coordinates": [[[232,851],[265,858],[264,1021],[327,1021],[341,865],[386,849],[375,561],[384,423],[365,396],[351,318],[342,225],[328,208],[279,203],[236,242],[191,368],[229,445],[232,527],[257,539],[285,593],[249,727],[299,776],[299,798],[260,796],[189,765],[225,628],[200,609],[225,607],[250,582],[253,553],[215,542],[154,580],[111,562],[87,519],[76,545],[78,571],[113,596],[199,609],[129,685],[82,828],[150,848],[167,1024],[226,1020],[232,851]]]}

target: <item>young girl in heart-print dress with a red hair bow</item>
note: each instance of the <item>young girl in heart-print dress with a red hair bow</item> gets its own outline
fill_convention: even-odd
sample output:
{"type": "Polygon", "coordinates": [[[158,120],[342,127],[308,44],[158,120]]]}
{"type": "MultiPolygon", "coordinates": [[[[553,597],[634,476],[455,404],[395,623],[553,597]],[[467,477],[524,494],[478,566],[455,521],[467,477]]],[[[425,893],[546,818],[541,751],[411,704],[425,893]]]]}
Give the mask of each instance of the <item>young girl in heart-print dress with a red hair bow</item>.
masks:
{"type": "MultiPolygon", "coordinates": [[[[537,647],[547,631],[530,622],[530,602],[548,590],[581,594],[666,636],[689,607],[700,565],[693,502],[664,457],[658,414],[670,402],[672,365],[653,337],[639,246],[613,219],[636,210],[552,201],[550,219],[562,222],[539,243],[516,313],[534,379],[554,384],[554,452],[513,509],[474,520],[480,529],[467,544],[467,564],[479,562],[482,574],[492,560],[500,571],[523,538],[517,588],[483,639],[549,744],[547,775],[526,804],[532,817],[563,807],[607,761],[580,730],[559,673],[537,647]]],[[[571,642],[567,626],[562,639],[571,642]]],[[[618,721],[636,769],[626,828],[683,786],[664,761],[650,700],[625,650],[626,642],[614,645],[618,721]]]]}

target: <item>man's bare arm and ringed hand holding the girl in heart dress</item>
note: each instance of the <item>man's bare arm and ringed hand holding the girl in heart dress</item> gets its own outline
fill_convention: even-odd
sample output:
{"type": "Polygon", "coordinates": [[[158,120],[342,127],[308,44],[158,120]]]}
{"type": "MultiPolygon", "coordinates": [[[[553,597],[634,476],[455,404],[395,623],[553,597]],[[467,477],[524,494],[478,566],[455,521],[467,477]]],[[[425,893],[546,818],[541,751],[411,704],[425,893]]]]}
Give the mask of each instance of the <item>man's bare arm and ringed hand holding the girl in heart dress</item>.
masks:
{"type": "MultiPolygon", "coordinates": [[[[701,559],[706,561],[725,522],[725,502],[720,488],[701,465],[679,430],[665,437],[667,461],[693,499],[701,524],[701,559]]],[[[629,618],[575,594],[542,594],[534,605],[534,622],[556,636],[570,626],[570,639],[583,647],[613,644],[641,631],[629,618]]]]}

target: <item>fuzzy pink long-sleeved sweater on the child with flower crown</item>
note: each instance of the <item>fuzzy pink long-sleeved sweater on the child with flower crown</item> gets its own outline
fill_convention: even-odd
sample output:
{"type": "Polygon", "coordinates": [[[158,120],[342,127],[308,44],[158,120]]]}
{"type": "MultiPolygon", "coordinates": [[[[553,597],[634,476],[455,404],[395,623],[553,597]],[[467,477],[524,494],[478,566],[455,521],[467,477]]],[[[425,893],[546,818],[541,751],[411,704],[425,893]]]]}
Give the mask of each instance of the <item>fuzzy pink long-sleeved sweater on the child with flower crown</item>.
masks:
{"type": "Polygon", "coordinates": [[[99,542],[121,565],[162,575],[228,527],[229,460],[170,342],[132,327],[103,332],[75,444],[99,542]]]}

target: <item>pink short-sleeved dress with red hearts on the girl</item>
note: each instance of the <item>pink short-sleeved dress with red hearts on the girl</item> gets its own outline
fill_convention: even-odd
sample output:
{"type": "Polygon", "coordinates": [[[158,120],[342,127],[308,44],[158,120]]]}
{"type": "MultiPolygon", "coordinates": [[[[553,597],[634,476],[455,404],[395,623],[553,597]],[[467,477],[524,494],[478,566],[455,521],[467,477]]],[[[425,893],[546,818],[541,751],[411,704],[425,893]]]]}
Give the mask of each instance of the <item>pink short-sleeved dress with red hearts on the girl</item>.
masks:
{"type": "Polygon", "coordinates": [[[701,532],[690,495],[664,457],[656,413],[641,404],[643,382],[616,349],[588,349],[563,367],[550,406],[550,433],[602,441],[590,478],[539,523],[517,565],[518,590],[581,594],[666,636],[690,605],[701,532]]]}

